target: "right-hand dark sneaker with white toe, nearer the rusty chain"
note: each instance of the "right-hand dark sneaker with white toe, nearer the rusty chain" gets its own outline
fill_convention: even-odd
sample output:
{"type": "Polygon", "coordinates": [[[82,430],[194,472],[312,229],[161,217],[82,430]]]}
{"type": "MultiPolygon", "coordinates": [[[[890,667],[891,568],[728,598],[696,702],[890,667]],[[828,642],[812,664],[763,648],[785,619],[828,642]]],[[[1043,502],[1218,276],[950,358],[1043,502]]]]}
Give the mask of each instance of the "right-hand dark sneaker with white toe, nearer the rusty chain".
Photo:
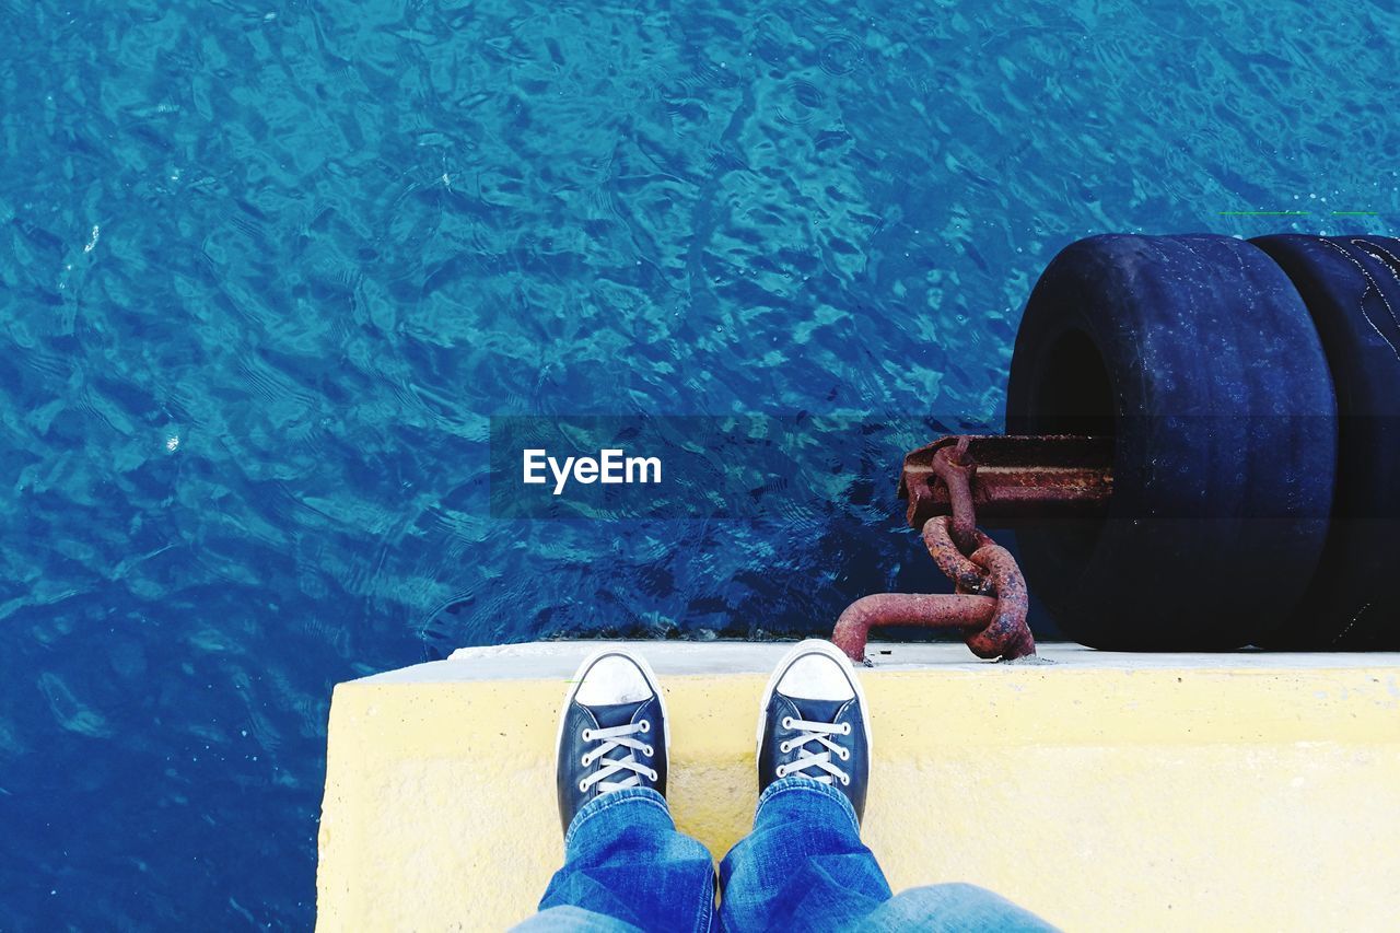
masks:
{"type": "Polygon", "coordinates": [[[808,639],[778,661],[759,716],[759,793],[801,775],[847,796],[865,813],[871,726],[851,661],[830,642],[808,639]]]}

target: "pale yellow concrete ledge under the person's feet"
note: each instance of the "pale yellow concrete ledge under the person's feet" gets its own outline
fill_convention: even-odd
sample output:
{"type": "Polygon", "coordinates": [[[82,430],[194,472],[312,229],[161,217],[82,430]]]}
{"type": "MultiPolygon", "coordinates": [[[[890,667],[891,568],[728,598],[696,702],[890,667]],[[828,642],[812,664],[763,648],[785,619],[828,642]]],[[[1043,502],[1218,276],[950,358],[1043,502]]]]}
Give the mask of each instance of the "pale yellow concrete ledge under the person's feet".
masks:
{"type": "MultiPolygon", "coordinates": [[[[563,845],[554,730],[594,646],[458,651],[340,684],[318,929],[500,929],[563,845]]],[[[671,804],[717,857],[753,815],[753,726],[787,646],[640,646],[672,716],[671,804]]],[[[990,887],[1070,930],[1394,929],[1400,656],[969,663],[874,646],[864,836],[895,890],[990,887]]]]}

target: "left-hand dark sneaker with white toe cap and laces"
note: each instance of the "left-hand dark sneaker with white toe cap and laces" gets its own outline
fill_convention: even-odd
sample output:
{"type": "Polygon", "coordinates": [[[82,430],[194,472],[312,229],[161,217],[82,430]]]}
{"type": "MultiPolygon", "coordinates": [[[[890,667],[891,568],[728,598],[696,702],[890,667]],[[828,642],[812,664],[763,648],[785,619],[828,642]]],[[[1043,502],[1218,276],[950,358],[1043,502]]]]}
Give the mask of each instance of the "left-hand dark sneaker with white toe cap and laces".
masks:
{"type": "Polygon", "coordinates": [[[624,649],[595,651],[574,674],[559,716],[559,818],[623,787],[666,793],[671,731],[651,665],[624,649]]]}

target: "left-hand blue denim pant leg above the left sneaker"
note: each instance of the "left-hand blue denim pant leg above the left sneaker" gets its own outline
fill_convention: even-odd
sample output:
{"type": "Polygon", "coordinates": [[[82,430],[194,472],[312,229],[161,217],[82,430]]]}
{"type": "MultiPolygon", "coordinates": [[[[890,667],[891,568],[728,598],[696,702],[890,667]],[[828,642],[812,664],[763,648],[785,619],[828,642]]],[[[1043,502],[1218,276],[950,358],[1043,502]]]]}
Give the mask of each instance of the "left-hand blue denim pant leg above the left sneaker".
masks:
{"type": "Polygon", "coordinates": [[[714,862],[676,831],[655,790],[616,790],[589,800],[568,825],[564,867],[539,909],[517,930],[710,930],[714,862]]]}

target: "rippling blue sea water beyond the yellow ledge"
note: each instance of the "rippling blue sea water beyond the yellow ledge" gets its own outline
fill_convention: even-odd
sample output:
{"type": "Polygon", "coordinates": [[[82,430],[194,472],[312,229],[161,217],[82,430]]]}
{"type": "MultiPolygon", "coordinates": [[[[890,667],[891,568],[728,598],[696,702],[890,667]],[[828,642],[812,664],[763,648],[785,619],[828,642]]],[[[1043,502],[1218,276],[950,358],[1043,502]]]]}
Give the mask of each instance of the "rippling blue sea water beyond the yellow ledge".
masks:
{"type": "Polygon", "coordinates": [[[995,423],[1071,240],[1400,210],[1390,3],[4,0],[0,25],[7,930],[307,927],[337,681],[798,635],[937,586],[892,495],[927,437],[882,437],[816,520],[508,521],[490,416],[995,423]]]}

